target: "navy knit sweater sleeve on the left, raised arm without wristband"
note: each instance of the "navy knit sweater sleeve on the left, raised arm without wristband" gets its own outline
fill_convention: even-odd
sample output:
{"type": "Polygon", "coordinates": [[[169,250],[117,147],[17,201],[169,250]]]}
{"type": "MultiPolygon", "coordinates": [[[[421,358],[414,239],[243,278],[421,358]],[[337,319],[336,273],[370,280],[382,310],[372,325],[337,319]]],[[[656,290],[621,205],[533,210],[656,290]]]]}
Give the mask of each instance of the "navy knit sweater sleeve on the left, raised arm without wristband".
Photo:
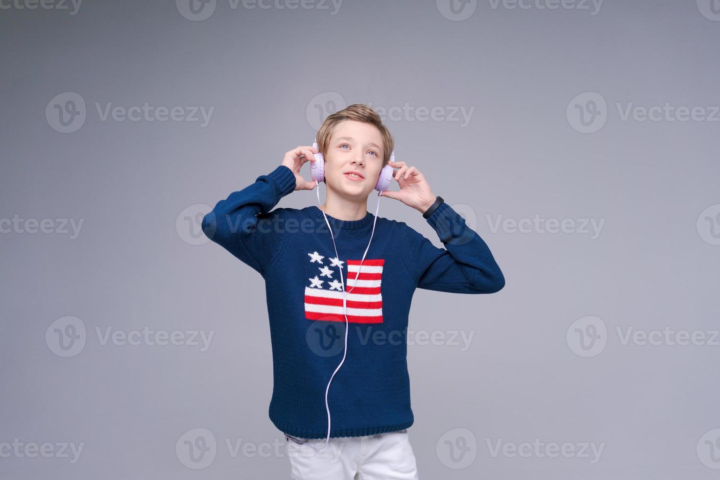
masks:
{"type": "Polygon", "coordinates": [[[234,191],[220,200],[202,219],[202,231],[210,240],[263,273],[281,250],[284,209],[270,210],[295,189],[295,176],[286,166],[279,166],[254,184],[234,191]]]}

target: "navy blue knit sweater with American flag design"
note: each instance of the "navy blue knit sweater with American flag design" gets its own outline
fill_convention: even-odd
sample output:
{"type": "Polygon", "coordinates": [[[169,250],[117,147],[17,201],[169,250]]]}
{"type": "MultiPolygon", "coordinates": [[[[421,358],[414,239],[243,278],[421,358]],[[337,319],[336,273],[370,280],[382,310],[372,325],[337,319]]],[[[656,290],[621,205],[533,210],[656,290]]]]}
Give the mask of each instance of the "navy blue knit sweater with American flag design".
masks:
{"type": "MultiPolygon", "coordinates": [[[[343,357],[345,317],[338,266],[350,291],[348,351],[330,384],[330,437],[356,437],[413,425],[407,327],[416,288],[488,294],[505,285],[485,242],[448,204],[428,218],[446,249],[405,222],[374,215],[340,220],[323,212],[273,208],[295,188],[279,166],[217,202],[202,221],[214,242],[265,280],[273,356],[269,417],[299,438],[325,438],[325,387],[343,357]]],[[[450,312],[450,311],[449,311],[450,312]]]]}

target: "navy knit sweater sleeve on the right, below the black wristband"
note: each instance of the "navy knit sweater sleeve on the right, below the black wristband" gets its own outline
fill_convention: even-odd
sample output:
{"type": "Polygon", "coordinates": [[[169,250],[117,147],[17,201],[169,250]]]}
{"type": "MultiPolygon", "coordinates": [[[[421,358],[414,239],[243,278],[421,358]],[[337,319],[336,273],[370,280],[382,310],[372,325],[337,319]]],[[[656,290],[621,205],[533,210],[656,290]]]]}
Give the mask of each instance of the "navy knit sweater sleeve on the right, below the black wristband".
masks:
{"type": "Polygon", "coordinates": [[[459,294],[492,294],[505,277],[485,241],[448,204],[441,204],[428,223],[446,248],[405,225],[405,262],[418,278],[418,288],[459,294]]]}

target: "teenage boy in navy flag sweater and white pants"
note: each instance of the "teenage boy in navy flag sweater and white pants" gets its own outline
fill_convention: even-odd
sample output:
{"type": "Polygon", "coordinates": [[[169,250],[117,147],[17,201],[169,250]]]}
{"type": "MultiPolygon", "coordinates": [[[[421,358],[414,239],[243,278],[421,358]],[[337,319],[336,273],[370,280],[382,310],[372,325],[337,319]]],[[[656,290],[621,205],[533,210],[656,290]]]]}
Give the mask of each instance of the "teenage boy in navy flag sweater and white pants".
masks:
{"type": "Polygon", "coordinates": [[[318,148],[290,150],[274,171],[218,201],[202,230],[265,280],[269,417],[289,440],[292,478],[417,479],[405,335],[413,292],[489,294],[505,278],[485,241],[418,168],[390,162],[394,140],[370,107],[331,114],[316,138],[318,148]],[[316,153],[324,157],[325,204],[273,209],[290,192],[317,186],[300,175],[316,153]],[[400,191],[382,196],[423,214],[446,248],[367,211],[388,164],[400,191]],[[331,448],[317,448],[328,428],[331,448]]]}

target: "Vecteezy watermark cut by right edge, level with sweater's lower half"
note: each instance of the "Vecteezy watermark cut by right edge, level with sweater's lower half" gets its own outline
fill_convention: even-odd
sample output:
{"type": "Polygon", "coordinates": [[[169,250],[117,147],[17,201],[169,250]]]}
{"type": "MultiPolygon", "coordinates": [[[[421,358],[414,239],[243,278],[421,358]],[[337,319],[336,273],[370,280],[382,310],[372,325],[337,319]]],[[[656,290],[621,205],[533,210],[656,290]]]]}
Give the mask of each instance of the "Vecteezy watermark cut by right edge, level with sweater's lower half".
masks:
{"type": "MultiPolygon", "coordinates": [[[[720,346],[720,330],[675,330],[669,325],[662,329],[643,330],[633,326],[616,326],[618,345],[628,346],[720,346]]],[[[608,344],[608,327],[594,315],[582,317],[567,328],[567,346],[581,357],[600,355],[608,344]]]]}

